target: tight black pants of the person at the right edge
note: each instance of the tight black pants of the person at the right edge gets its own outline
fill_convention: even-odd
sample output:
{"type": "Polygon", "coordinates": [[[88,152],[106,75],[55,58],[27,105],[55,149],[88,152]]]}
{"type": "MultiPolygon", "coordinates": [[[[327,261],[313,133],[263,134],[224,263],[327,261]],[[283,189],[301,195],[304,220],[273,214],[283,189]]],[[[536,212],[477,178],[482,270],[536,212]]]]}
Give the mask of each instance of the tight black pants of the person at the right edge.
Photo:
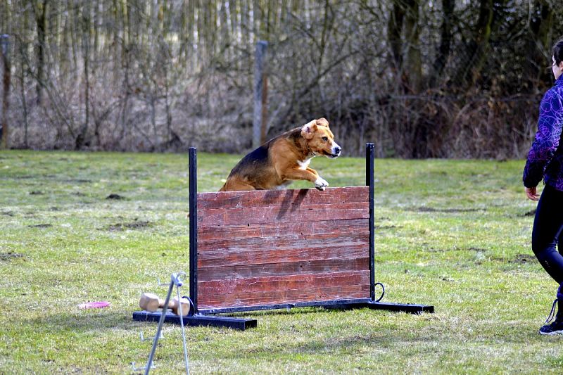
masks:
{"type": "Polygon", "coordinates": [[[563,191],[545,185],[533,220],[532,250],[557,284],[557,299],[563,302],[563,191]],[[559,248],[559,252],[555,248],[559,248]]]}

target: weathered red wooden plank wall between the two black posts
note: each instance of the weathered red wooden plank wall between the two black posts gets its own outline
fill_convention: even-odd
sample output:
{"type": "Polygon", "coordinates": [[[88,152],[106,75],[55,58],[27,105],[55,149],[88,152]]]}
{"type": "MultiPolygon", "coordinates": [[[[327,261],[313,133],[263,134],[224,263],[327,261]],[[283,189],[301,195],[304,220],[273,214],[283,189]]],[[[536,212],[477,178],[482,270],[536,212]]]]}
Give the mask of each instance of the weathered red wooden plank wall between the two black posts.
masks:
{"type": "Polygon", "coordinates": [[[198,307],[369,297],[369,188],[198,194],[198,307]]]}

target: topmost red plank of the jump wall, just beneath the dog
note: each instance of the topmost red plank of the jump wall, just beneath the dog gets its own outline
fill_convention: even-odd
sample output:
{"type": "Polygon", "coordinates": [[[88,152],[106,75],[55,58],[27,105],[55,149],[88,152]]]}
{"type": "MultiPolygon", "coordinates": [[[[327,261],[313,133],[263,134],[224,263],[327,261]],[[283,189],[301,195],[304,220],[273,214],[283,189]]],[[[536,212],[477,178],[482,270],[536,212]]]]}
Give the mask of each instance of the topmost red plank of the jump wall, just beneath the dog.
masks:
{"type": "Polygon", "coordinates": [[[265,205],[317,205],[368,201],[369,186],[317,189],[220,191],[198,193],[198,208],[245,208],[265,205]]]}

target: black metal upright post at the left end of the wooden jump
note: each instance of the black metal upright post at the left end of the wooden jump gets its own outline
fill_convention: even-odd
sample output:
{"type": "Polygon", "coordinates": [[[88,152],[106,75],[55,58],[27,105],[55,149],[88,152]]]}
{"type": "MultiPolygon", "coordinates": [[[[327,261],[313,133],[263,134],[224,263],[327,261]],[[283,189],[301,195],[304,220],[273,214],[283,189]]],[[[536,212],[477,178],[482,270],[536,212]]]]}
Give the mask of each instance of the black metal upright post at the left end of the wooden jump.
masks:
{"type": "Polygon", "coordinates": [[[198,174],[197,149],[189,148],[189,298],[198,313],[198,174]]]}

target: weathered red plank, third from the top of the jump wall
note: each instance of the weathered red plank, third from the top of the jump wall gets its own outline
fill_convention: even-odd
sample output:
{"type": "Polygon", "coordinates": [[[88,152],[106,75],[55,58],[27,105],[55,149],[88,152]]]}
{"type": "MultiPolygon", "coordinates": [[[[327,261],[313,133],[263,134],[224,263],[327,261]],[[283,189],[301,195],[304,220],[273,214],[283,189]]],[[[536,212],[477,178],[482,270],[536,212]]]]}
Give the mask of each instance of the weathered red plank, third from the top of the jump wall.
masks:
{"type": "Polygon", "coordinates": [[[315,236],[332,231],[357,233],[369,230],[367,219],[324,220],[322,222],[279,222],[198,227],[198,244],[215,239],[246,237],[315,236]]]}

